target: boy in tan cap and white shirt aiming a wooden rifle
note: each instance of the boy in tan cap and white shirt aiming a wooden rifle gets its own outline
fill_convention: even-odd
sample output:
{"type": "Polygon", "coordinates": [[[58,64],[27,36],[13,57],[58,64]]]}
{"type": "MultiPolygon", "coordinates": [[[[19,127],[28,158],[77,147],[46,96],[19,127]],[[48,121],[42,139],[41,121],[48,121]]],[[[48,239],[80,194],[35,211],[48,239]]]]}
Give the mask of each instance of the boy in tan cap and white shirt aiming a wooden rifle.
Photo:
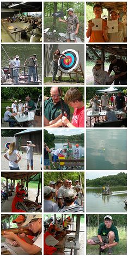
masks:
{"type": "Polygon", "coordinates": [[[13,232],[10,231],[4,231],[4,237],[15,240],[19,244],[19,246],[26,251],[27,254],[38,254],[39,252],[41,252],[42,248],[42,215],[27,215],[26,221],[22,224],[22,227],[26,225],[28,225],[29,229],[33,231],[34,234],[38,233],[38,235],[36,236],[37,238],[33,244],[22,241],[19,236],[15,235],[13,232]]]}

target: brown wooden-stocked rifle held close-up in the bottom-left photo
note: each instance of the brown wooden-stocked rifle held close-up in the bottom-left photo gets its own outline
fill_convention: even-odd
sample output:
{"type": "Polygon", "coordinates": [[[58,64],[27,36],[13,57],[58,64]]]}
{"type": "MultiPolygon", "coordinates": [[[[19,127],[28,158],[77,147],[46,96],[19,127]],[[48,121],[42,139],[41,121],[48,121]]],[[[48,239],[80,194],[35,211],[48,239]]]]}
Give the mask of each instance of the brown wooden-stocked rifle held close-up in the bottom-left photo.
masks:
{"type": "Polygon", "coordinates": [[[22,234],[25,233],[26,235],[32,235],[36,236],[38,233],[34,234],[31,230],[29,230],[27,227],[26,228],[7,228],[7,229],[2,229],[1,230],[1,235],[5,235],[4,231],[8,232],[13,232],[14,234],[22,234]]]}

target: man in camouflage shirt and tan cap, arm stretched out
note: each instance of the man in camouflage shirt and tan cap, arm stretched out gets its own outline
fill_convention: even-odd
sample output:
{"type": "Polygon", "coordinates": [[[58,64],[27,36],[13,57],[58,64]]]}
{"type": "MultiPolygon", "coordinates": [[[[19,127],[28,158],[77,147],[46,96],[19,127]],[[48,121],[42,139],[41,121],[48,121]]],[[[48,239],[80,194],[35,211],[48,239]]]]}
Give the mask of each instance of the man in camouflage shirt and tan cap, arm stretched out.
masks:
{"type": "Polygon", "coordinates": [[[78,17],[76,14],[74,14],[74,9],[69,8],[67,11],[69,14],[68,18],[66,20],[62,20],[59,18],[59,21],[67,24],[67,31],[66,31],[67,42],[70,42],[70,41],[77,42],[76,36],[78,34],[78,29],[79,29],[78,17]]]}

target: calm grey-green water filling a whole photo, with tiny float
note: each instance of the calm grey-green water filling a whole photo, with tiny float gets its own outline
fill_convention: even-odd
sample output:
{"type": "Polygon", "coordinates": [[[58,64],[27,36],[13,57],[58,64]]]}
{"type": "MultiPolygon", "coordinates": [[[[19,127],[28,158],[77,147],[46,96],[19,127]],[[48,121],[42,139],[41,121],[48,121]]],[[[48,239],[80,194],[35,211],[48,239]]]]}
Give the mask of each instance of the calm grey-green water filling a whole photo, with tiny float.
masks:
{"type": "Polygon", "coordinates": [[[87,170],[126,170],[126,142],[126,130],[87,130],[87,170]]]}

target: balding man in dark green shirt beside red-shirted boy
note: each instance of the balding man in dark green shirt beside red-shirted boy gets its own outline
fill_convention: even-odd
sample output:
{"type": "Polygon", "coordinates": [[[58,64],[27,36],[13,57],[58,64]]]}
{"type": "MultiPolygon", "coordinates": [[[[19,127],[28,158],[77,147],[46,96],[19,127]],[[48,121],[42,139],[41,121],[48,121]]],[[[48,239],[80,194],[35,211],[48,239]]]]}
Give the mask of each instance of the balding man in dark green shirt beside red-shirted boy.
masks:
{"type": "MultiPolygon", "coordinates": [[[[51,87],[50,90],[51,97],[44,102],[44,115],[48,121],[52,121],[56,119],[58,116],[62,118],[62,105],[64,108],[64,112],[67,114],[67,118],[70,119],[70,108],[68,104],[64,102],[62,99],[62,105],[60,103],[60,95],[58,91],[58,87],[51,87]]],[[[60,94],[62,92],[60,90],[60,94]]]]}

